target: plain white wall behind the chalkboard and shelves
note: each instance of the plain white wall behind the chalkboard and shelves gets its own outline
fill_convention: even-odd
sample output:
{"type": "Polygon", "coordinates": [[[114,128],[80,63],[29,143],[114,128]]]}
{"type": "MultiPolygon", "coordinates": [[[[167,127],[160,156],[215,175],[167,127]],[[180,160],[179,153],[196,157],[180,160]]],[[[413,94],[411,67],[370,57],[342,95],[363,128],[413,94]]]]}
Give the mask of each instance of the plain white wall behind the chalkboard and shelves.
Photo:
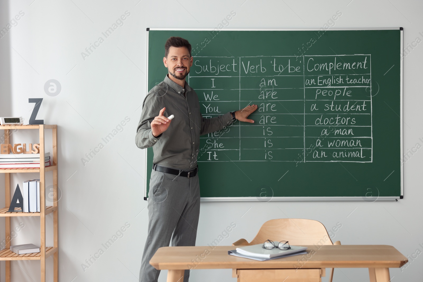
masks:
{"type": "MultiPolygon", "coordinates": [[[[22,115],[28,120],[32,105],[27,99],[44,98],[38,119],[58,124],[61,282],[138,281],[147,233],[147,203],[142,200],[145,151],[135,146],[134,137],[146,94],[146,27],[216,27],[231,11],[236,11],[231,28],[322,27],[339,10],[342,16],[335,27],[401,26],[404,45],[416,37],[423,39],[419,34],[423,33],[423,3],[418,0],[138,1],[0,1],[1,28],[19,11],[25,13],[0,39],[0,115],[22,115]],[[125,11],[131,14],[124,25],[83,60],[81,52],[125,11]],[[49,79],[60,82],[62,90],[58,96],[44,93],[49,79]],[[102,137],[125,117],[130,122],[124,130],[84,166],[81,158],[85,153],[102,142],[102,137]],[[126,222],[130,227],[124,237],[83,271],[81,264],[85,259],[103,248],[102,243],[126,222]]],[[[423,137],[422,59],[423,44],[404,59],[405,151],[416,143],[423,145],[419,140],[423,137]]],[[[29,142],[22,132],[14,138],[15,142],[29,142]]],[[[31,138],[35,141],[35,134],[31,138]]],[[[422,151],[404,164],[403,200],[202,203],[198,245],[213,241],[231,222],[236,223],[236,228],[222,245],[239,238],[251,240],[266,220],[291,217],[316,219],[327,228],[341,222],[334,241],[341,240],[343,244],[388,244],[406,256],[417,249],[423,251],[419,245],[423,243],[422,151]]],[[[22,183],[25,177],[28,176],[13,176],[13,185],[22,183]]],[[[47,178],[51,179],[51,174],[47,178]]],[[[1,183],[3,179],[1,175],[1,183]]],[[[0,195],[3,202],[3,192],[0,195]]],[[[21,221],[25,228],[12,244],[39,242],[39,219],[16,218],[12,224],[21,221]]],[[[51,230],[51,221],[49,216],[47,230],[51,230]]],[[[0,224],[3,241],[4,220],[0,224]]],[[[51,233],[47,244],[52,244],[51,233]]],[[[418,255],[402,271],[391,268],[392,281],[421,281],[422,257],[418,255]]],[[[11,281],[39,281],[38,266],[36,261],[12,262],[11,281]]],[[[51,266],[50,258],[48,281],[52,281],[51,266]]],[[[0,271],[3,282],[3,262],[0,271]]],[[[165,276],[164,271],[159,280],[165,281],[165,276]]],[[[193,271],[191,277],[191,281],[235,281],[231,270],[193,271]]],[[[335,270],[335,281],[368,281],[368,271],[335,270]]]]}

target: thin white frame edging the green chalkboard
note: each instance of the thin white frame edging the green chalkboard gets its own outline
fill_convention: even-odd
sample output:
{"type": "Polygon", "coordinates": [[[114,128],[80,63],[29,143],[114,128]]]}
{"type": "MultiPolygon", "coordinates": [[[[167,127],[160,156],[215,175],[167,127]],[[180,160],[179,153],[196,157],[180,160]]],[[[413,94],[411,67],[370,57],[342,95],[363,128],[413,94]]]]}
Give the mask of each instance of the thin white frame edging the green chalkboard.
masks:
{"type": "MultiPolygon", "coordinates": [[[[213,28],[147,28],[146,32],[146,94],[148,93],[148,32],[150,30],[188,30],[188,31],[211,31],[213,28]]],[[[223,29],[222,29],[223,30],[223,29]]],[[[321,28],[225,28],[228,31],[301,31],[301,30],[321,30],[321,28]]],[[[392,197],[201,197],[202,202],[220,202],[220,201],[356,201],[364,200],[366,202],[387,201],[402,199],[404,197],[404,166],[402,165],[403,159],[403,41],[404,41],[404,29],[402,27],[369,27],[369,28],[331,28],[331,30],[400,30],[400,162],[401,162],[401,195],[392,197]]],[[[147,151],[145,151],[145,171],[144,171],[144,200],[147,198],[147,170],[151,169],[148,167],[147,162],[147,151]]]]}

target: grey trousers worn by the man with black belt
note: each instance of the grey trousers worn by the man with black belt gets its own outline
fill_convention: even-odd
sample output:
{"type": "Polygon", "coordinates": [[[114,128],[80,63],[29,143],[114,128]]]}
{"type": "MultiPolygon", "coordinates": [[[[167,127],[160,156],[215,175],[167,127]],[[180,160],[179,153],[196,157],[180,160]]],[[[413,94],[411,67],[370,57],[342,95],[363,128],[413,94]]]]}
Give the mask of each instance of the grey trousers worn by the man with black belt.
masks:
{"type": "MultiPolygon", "coordinates": [[[[140,282],[157,282],[160,271],[149,261],[160,247],[195,246],[200,215],[200,184],[193,178],[152,170],[148,192],[148,235],[141,260],[140,282]],[[173,235],[172,235],[173,233],[173,235]]],[[[184,282],[190,271],[186,270],[184,282]]]]}

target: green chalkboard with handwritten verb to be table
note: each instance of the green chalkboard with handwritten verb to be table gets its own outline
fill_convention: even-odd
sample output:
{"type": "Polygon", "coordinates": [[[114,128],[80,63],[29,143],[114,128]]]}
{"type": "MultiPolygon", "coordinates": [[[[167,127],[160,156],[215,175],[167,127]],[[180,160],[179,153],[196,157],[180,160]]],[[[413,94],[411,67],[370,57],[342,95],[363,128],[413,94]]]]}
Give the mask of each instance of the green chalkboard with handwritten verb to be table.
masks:
{"type": "Polygon", "coordinates": [[[201,136],[202,200],[403,197],[402,28],[150,29],[148,90],[167,74],[170,36],[192,44],[203,117],[258,105],[254,124],[201,136]]]}

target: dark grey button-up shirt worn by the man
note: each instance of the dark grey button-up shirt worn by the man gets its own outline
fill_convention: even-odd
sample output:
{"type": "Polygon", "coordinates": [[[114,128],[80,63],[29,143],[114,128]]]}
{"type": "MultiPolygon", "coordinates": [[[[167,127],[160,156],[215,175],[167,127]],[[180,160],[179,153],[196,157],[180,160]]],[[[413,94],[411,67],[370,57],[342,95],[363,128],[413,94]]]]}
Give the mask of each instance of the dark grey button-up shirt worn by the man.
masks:
{"type": "Polygon", "coordinates": [[[167,75],[144,99],[135,143],[144,149],[153,146],[155,164],[181,170],[197,166],[200,135],[222,129],[232,123],[231,113],[203,118],[195,91],[187,82],[181,87],[167,75]],[[169,128],[158,137],[151,131],[151,121],[166,107],[166,117],[175,115],[169,128]]]}

